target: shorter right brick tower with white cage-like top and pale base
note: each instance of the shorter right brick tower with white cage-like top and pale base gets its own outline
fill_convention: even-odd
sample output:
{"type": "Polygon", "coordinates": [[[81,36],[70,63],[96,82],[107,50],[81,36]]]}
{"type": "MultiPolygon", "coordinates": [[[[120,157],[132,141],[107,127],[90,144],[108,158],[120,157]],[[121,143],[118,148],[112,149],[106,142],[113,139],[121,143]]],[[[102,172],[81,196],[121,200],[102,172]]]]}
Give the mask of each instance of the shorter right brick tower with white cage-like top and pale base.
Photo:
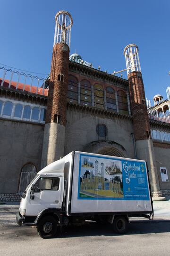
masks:
{"type": "Polygon", "coordinates": [[[144,83],[138,56],[138,47],[130,44],[125,47],[131,113],[133,117],[137,158],[147,161],[153,197],[161,197],[158,173],[151,138],[149,117],[146,108],[144,83]]]}

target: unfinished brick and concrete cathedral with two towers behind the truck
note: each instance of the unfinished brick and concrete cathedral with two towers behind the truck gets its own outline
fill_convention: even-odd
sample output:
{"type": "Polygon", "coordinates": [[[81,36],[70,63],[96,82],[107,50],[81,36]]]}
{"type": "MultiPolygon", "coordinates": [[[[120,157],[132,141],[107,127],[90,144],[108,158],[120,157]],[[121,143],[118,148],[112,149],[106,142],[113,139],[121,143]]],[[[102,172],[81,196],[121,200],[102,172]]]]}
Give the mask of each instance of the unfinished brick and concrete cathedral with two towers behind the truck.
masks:
{"type": "Polygon", "coordinates": [[[48,78],[0,67],[0,201],[20,200],[38,171],[74,150],[146,160],[153,198],[170,196],[169,100],[146,101],[138,46],[124,49],[123,79],[69,54],[67,11],[55,22],[48,78]]]}

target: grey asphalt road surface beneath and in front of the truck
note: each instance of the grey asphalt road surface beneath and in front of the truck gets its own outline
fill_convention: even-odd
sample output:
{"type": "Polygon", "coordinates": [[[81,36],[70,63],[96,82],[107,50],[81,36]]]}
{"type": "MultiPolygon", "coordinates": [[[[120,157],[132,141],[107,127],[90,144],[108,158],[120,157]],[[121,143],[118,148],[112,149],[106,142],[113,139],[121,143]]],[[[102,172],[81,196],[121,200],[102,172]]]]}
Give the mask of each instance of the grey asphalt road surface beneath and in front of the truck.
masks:
{"type": "Polygon", "coordinates": [[[126,235],[110,225],[87,223],[67,227],[55,238],[42,239],[36,228],[19,227],[17,210],[0,210],[0,255],[16,256],[167,256],[170,255],[170,220],[132,221],[126,235]]]}

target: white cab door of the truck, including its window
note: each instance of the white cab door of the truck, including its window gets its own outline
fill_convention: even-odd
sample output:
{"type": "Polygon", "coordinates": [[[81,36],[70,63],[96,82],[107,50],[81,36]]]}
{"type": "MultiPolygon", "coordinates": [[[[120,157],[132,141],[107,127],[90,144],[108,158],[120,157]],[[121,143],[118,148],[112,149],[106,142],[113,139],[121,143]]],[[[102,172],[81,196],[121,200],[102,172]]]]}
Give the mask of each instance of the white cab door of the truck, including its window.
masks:
{"type": "Polygon", "coordinates": [[[34,184],[34,199],[29,199],[26,215],[37,216],[46,208],[61,208],[64,177],[41,176],[34,184]]]}

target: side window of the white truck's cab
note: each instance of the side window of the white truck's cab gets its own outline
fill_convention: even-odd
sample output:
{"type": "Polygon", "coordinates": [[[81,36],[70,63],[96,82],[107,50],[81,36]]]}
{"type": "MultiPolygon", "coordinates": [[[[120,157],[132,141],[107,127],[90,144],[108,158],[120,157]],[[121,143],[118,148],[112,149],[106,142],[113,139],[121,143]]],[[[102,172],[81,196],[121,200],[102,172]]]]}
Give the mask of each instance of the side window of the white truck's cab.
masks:
{"type": "Polygon", "coordinates": [[[41,177],[35,183],[34,192],[41,192],[42,190],[59,190],[59,178],[41,177]]]}

